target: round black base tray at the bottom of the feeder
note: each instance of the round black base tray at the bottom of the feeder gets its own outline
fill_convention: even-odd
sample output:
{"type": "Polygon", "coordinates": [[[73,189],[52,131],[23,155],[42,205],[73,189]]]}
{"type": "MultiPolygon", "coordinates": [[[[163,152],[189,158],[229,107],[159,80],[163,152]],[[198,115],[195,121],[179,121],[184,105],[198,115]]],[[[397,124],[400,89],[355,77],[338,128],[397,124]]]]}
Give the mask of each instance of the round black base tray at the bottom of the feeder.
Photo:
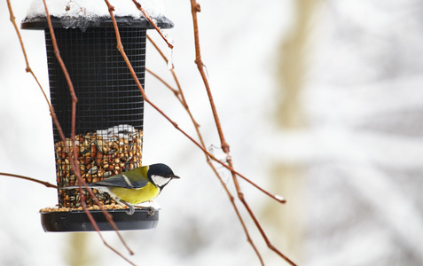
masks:
{"type": "MultiPolygon", "coordinates": [[[[108,209],[114,223],[120,231],[153,229],[159,223],[159,210],[149,215],[148,208],[135,209],[133,215],[126,213],[128,209],[108,209]]],[[[113,231],[101,210],[90,210],[100,231],[113,231]]],[[[41,223],[44,231],[95,231],[90,219],[83,210],[68,212],[41,212],[41,223]]]]}

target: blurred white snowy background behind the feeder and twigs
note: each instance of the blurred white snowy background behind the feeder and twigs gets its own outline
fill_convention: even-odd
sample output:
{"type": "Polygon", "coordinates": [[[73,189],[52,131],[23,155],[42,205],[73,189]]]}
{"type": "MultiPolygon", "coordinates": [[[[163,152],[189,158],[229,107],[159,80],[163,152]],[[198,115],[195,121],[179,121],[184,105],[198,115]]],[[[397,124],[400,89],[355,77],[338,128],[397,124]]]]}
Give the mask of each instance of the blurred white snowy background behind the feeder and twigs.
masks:
{"type": "MultiPolygon", "coordinates": [[[[30,2],[12,1],[18,22],[30,2]]],[[[281,43],[303,21],[296,8],[304,2],[200,2],[201,51],[235,166],[288,203],[273,205],[243,184],[247,200],[275,245],[302,265],[421,265],[423,4],[317,1],[303,48],[287,42],[287,50],[303,64],[295,109],[302,122],[293,127],[278,122],[280,99],[290,90],[280,84],[278,66],[286,56],[281,43]],[[278,168],[285,169],[280,178],[278,168]]],[[[193,63],[190,3],[165,0],[161,12],[176,25],[167,32],[175,41],[173,58],[187,101],[207,144],[218,146],[193,63]]],[[[0,171],[54,183],[51,117],[34,79],[25,73],[5,1],[0,20],[0,171]]],[[[43,32],[21,34],[30,65],[47,90],[43,32]]],[[[160,42],[153,31],[150,35],[160,42]]],[[[170,81],[151,45],[146,66],[170,81]]],[[[294,73],[294,65],[284,69],[294,73]]],[[[145,87],[158,106],[194,134],[166,88],[149,74],[145,87]]],[[[158,199],[163,209],[156,229],[123,232],[136,252],[133,262],[259,265],[204,156],[148,107],[143,161],[168,163],[183,179],[169,184],[158,199]]],[[[38,210],[56,204],[53,189],[0,176],[0,200],[0,265],[125,264],[96,233],[43,232],[38,210]],[[86,253],[76,253],[75,239],[85,239],[79,245],[86,253]]],[[[247,224],[266,264],[285,265],[266,249],[248,219],[247,224]]],[[[113,232],[105,237],[126,254],[113,232]]]]}

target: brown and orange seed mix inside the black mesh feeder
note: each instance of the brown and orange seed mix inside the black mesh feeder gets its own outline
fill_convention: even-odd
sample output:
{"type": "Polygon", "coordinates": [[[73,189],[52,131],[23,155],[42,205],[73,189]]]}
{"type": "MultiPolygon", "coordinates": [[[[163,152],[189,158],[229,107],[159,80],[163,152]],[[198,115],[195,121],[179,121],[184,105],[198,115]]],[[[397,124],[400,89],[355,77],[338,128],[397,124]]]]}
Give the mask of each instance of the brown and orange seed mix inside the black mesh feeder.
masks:
{"type": "MultiPolygon", "coordinates": [[[[106,177],[141,167],[142,137],[142,131],[129,125],[119,125],[111,129],[75,136],[75,152],[82,178],[87,183],[95,183],[106,177]]],[[[66,144],[74,154],[70,138],[66,139],[66,144]]],[[[54,149],[59,207],[81,207],[81,195],[77,189],[60,189],[78,184],[63,141],[56,143],[54,149]]],[[[115,203],[108,194],[99,193],[96,189],[92,191],[104,205],[115,203]]],[[[85,190],[82,192],[87,206],[93,206],[94,200],[89,193],[85,190]]]]}

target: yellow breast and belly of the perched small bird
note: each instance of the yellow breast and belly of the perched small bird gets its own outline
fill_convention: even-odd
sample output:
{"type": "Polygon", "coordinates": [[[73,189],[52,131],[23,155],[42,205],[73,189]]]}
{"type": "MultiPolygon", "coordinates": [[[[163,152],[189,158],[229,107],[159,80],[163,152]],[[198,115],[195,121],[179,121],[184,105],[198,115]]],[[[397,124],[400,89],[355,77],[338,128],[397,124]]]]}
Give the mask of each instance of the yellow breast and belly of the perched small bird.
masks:
{"type": "Polygon", "coordinates": [[[121,187],[109,188],[110,192],[117,198],[129,203],[138,204],[148,200],[153,200],[160,193],[160,189],[150,182],[145,187],[139,189],[126,189],[121,187]]]}

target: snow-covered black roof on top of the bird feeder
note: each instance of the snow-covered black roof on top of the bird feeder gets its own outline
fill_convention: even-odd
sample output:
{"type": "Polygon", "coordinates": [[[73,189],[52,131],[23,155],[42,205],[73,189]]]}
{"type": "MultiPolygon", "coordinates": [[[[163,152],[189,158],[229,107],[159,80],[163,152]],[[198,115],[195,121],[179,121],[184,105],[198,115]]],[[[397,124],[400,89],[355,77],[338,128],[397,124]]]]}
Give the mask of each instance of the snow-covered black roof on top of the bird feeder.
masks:
{"type": "MultiPolygon", "coordinates": [[[[119,27],[146,27],[153,25],[145,19],[132,1],[109,0],[114,6],[114,16],[119,27]]],[[[137,0],[152,18],[157,27],[173,27],[172,21],[162,14],[161,1],[137,0]]],[[[53,27],[112,27],[112,19],[104,0],[46,0],[53,27]]],[[[48,27],[43,0],[33,0],[27,17],[22,20],[22,28],[43,29],[48,27]]]]}

